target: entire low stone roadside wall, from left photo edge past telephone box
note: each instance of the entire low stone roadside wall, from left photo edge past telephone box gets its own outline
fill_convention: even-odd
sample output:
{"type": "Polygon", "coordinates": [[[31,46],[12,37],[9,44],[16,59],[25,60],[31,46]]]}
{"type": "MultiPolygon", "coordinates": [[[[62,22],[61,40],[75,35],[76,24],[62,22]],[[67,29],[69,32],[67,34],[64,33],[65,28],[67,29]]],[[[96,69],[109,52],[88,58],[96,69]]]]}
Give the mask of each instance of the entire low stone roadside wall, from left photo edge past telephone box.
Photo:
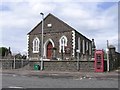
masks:
{"type": "MultiPolygon", "coordinates": [[[[34,65],[41,65],[40,61],[15,60],[15,69],[34,70],[34,65]]],[[[44,61],[44,71],[95,71],[94,61],[44,61]]],[[[2,69],[14,69],[14,60],[0,60],[2,69]]],[[[105,61],[105,68],[107,62],[105,61]]],[[[105,69],[106,70],[106,69],[105,69]]]]}

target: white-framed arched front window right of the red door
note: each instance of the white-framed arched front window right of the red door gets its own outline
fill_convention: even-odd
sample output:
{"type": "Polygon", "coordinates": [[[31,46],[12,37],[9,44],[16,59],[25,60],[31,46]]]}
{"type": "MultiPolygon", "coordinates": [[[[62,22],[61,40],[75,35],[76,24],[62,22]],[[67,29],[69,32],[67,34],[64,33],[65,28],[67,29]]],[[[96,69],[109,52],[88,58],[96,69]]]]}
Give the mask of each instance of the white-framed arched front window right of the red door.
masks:
{"type": "Polygon", "coordinates": [[[67,37],[66,36],[62,36],[59,40],[59,52],[61,53],[61,51],[64,53],[65,52],[65,46],[67,46],[67,37]]]}

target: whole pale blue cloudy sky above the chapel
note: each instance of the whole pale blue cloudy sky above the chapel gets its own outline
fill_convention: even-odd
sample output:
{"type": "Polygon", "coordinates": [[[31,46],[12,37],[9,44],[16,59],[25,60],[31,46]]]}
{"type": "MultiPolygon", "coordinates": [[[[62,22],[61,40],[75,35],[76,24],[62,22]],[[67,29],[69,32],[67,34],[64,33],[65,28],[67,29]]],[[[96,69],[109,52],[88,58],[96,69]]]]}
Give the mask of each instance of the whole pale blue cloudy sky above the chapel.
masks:
{"type": "Polygon", "coordinates": [[[0,47],[26,53],[27,34],[42,20],[40,12],[94,38],[97,49],[106,49],[107,40],[118,49],[118,0],[1,0],[0,47]]]}

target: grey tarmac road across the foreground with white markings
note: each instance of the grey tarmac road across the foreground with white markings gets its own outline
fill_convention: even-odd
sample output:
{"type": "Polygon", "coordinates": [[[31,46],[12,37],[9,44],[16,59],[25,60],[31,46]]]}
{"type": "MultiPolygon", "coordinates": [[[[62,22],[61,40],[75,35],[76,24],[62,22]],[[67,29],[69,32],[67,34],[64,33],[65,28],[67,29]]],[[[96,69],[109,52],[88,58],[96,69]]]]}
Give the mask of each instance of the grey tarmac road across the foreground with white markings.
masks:
{"type": "Polygon", "coordinates": [[[3,73],[2,88],[118,88],[118,79],[3,73]]]}

